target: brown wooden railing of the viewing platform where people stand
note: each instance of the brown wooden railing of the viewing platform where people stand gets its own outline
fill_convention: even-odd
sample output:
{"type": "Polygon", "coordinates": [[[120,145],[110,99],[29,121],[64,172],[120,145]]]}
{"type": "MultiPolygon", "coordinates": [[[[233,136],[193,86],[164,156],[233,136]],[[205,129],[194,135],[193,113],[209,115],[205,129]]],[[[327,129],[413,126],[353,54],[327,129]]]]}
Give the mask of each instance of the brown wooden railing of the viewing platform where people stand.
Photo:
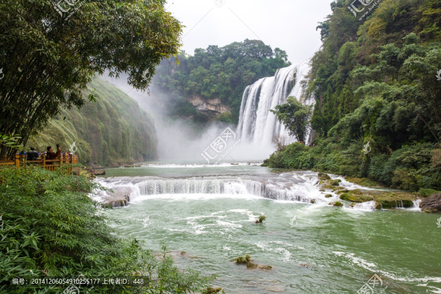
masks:
{"type": "MultiPolygon", "coordinates": [[[[41,155],[41,159],[27,160],[26,155],[15,155],[14,160],[0,161],[0,166],[15,166],[16,168],[26,168],[28,165],[41,166],[48,171],[55,171],[60,165],[75,164],[78,163],[77,155],[60,154],[57,159],[46,159],[46,154],[41,155]]],[[[72,171],[70,171],[72,172],[72,171]]]]}

